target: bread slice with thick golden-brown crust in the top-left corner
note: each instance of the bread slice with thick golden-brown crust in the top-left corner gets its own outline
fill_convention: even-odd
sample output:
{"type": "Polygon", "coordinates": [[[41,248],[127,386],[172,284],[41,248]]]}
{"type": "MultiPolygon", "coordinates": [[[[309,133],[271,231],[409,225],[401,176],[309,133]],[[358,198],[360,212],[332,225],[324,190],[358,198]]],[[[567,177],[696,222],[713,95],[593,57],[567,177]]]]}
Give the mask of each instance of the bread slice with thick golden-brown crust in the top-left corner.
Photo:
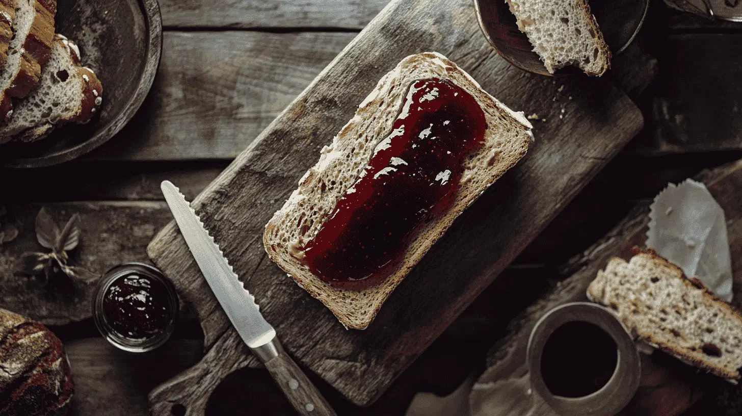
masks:
{"type": "Polygon", "coordinates": [[[56,0],[16,0],[13,39],[0,74],[0,122],[13,111],[13,98],[26,97],[39,82],[51,54],[56,0]]]}

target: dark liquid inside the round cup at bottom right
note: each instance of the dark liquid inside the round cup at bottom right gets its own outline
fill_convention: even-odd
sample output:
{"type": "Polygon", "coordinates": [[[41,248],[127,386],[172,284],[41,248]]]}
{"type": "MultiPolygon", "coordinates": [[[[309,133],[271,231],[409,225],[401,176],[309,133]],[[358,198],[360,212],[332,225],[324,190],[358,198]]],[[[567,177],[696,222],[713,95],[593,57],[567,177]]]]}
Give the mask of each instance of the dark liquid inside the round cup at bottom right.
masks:
{"type": "Polygon", "coordinates": [[[541,374],[551,394],[583,397],[611,380],[618,362],[616,342],[589,322],[567,322],[546,341],[541,374]]]}

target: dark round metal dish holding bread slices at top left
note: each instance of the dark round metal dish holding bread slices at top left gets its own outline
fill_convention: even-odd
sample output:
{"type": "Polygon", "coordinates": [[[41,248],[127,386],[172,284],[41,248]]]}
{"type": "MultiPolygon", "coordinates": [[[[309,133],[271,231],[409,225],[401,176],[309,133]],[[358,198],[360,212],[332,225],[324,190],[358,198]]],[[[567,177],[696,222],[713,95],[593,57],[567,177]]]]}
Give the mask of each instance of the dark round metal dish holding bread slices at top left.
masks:
{"type": "Polygon", "coordinates": [[[0,146],[1,166],[50,166],[90,152],[134,117],[152,86],[162,53],[157,0],[58,0],[56,32],[79,45],[83,65],[101,80],[99,116],[85,126],[62,126],[36,143],[0,146]]]}

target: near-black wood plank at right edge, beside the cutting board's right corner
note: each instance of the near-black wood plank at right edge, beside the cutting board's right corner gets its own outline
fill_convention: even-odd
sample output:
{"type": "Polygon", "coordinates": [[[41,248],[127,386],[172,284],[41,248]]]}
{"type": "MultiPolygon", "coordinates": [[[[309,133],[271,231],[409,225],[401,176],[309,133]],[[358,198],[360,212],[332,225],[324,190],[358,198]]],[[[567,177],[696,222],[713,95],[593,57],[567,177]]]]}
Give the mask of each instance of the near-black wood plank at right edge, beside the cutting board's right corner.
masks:
{"type": "Polygon", "coordinates": [[[680,33],[662,45],[637,155],[742,149],[742,33],[680,33]]]}

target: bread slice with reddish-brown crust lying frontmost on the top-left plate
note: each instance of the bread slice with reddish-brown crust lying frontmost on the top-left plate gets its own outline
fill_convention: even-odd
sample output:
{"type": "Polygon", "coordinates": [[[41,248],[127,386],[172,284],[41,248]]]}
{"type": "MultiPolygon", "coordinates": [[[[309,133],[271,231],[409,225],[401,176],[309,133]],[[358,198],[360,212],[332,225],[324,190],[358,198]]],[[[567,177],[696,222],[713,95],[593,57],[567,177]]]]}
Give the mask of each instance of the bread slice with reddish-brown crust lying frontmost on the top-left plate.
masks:
{"type": "Polygon", "coordinates": [[[103,100],[103,87],[89,68],[80,64],[77,45],[56,35],[49,62],[39,85],[16,108],[5,126],[0,143],[16,137],[39,140],[62,123],[87,123],[103,100]]]}

